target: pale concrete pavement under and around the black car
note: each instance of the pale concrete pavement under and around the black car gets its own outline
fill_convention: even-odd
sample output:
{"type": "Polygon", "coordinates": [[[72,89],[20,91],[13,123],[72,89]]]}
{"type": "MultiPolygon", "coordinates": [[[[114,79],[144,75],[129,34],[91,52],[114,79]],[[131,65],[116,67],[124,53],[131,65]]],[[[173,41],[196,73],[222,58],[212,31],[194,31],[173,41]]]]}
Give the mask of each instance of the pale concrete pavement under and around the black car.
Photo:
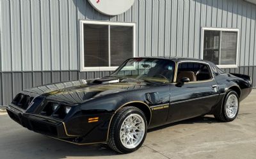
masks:
{"type": "Polygon", "coordinates": [[[148,132],[138,151],[119,155],[104,144],[76,146],[30,132],[0,116],[0,158],[256,158],[256,90],[240,105],[237,119],[218,123],[197,117],[148,132]]]}

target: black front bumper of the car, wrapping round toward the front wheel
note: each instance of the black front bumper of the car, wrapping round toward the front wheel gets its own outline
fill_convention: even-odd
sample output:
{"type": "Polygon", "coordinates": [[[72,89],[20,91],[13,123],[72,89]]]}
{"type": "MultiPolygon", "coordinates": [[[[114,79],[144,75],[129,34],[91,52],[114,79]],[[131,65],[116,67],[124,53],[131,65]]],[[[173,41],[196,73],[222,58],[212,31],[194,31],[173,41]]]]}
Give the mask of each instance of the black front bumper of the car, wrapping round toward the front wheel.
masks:
{"type": "Polygon", "coordinates": [[[95,123],[88,123],[87,119],[92,115],[79,116],[65,123],[52,117],[25,112],[15,105],[9,105],[6,110],[14,121],[29,130],[78,145],[107,142],[109,119],[113,116],[113,113],[98,114],[100,119],[95,123]]]}

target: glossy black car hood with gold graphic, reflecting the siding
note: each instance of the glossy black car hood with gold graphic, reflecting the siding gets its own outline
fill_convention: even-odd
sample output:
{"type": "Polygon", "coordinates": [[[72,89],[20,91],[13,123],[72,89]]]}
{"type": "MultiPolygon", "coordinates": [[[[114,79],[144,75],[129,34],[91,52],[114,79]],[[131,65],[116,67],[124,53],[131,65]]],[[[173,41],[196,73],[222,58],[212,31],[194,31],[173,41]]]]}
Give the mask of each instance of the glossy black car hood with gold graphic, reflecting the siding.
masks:
{"type": "Polygon", "coordinates": [[[34,96],[45,96],[47,100],[65,103],[81,103],[100,96],[134,89],[143,89],[152,85],[151,83],[143,81],[120,81],[120,79],[111,77],[49,84],[26,89],[23,92],[26,94],[34,94],[34,96]]]}

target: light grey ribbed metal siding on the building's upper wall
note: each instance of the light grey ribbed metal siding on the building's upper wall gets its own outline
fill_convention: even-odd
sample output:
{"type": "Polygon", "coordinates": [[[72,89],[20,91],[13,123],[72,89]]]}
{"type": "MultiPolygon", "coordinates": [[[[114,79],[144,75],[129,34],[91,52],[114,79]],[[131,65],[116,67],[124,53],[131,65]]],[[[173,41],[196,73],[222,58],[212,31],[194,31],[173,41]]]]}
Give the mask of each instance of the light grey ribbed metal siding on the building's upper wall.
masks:
{"type": "Polygon", "coordinates": [[[79,70],[79,20],[136,22],[137,56],[200,58],[200,27],[240,29],[239,66],[253,66],[255,4],[242,0],[136,0],[109,17],[86,0],[1,0],[2,72],[79,70]]]}

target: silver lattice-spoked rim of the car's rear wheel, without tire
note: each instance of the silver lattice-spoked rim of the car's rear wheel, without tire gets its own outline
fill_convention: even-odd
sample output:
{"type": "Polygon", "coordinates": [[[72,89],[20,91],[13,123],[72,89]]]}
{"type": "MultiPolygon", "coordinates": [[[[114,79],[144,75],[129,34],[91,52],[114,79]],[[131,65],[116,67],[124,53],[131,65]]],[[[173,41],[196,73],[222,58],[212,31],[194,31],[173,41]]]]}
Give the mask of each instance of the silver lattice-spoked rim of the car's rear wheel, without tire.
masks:
{"type": "Polygon", "coordinates": [[[228,96],[227,102],[226,102],[226,114],[227,117],[232,119],[236,116],[237,110],[238,110],[238,99],[236,95],[230,95],[228,96]]]}

